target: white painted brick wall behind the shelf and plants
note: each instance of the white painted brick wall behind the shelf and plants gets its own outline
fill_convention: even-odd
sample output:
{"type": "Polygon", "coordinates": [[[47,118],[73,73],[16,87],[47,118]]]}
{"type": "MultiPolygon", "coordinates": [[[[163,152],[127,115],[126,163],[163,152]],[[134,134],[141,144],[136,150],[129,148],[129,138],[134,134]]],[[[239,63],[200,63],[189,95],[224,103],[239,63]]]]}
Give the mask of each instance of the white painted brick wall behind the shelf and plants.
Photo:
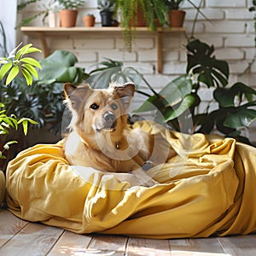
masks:
{"type": "MultiPolygon", "coordinates": [[[[201,0],[193,1],[195,4],[201,0]]],[[[256,63],[253,63],[250,73],[243,73],[249,62],[252,61],[255,53],[254,49],[254,28],[253,13],[248,11],[252,5],[250,0],[205,0],[201,11],[207,15],[211,22],[199,15],[199,20],[195,27],[195,37],[207,44],[213,44],[218,58],[229,61],[230,64],[230,84],[242,81],[256,88],[256,63]]],[[[184,4],[186,18],[184,26],[189,35],[195,17],[195,9],[191,4],[184,4]]],[[[33,6],[30,14],[39,8],[33,6]]],[[[85,2],[85,7],[79,13],[77,26],[83,25],[83,15],[92,13],[96,15],[97,26],[100,26],[99,10],[96,9],[96,0],[85,2]]],[[[23,14],[29,15],[28,13],[23,14]]],[[[42,26],[40,18],[32,25],[42,26]]],[[[23,42],[32,42],[37,47],[41,47],[36,38],[20,38],[23,42]]],[[[163,75],[157,77],[158,84],[166,84],[165,79],[176,78],[184,73],[186,67],[186,50],[184,45],[186,38],[183,33],[166,33],[163,36],[163,75]]],[[[137,41],[133,51],[127,53],[123,51],[123,39],[121,34],[106,34],[99,36],[90,34],[84,37],[68,36],[66,38],[49,38],[50,49],[67,49],[72,51],[79,58],[79,65],[85,67],[87,71],[91,65],[102,61],[104,57],[113,60],[124,61],[125,65],[142,68],[142,72],[149,74],[151,80],[155,80],[155,69],[157,63],[156,38],[150,34],[140,34],[137,32],[137,41]]],[[[208,92],[202,92],[207,95],[208,92]]],[[[207,101],[207,97],[205,97],[207,101]]],[[[256,123],[256,122],[254,122],[256,123]]],[[[256,124],[250,130],[250,137],[256,141],[256,124]]]]}

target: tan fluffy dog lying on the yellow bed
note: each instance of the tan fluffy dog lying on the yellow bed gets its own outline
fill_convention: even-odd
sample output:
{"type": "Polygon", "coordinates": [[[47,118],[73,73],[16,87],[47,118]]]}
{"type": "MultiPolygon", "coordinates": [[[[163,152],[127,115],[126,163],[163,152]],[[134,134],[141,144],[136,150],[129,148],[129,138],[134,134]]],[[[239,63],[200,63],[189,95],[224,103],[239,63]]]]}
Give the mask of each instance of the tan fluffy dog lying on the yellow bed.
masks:
{"type": "Polygon", "coordinates": [[[89,166],[103,172],[148,170],[172,157],[155,148],[155,136],[140,128],[132,129],[127,112],[135,85],[110,84],[107,89],[92,89],[89,84],[63,85],[65,102],[72,113],[65,138],[66,158],[73,166],[89,166]],[[153,157],[154,152],[158,153],[153,157]]]}

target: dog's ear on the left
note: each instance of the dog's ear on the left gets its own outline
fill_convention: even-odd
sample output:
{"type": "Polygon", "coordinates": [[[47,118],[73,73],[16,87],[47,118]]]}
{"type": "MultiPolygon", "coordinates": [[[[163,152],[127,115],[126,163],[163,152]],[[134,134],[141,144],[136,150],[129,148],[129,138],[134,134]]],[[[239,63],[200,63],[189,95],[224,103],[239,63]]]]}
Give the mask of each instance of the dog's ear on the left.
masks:
{"type": "Polygon", "coordinates": [[[85,102],[90,92],[93,91],[89,84],[75,86],[71,83],[66,83],[63,85],[63,89],[69,107],[77,111],[83,106],[83,102],[85,102]]]}

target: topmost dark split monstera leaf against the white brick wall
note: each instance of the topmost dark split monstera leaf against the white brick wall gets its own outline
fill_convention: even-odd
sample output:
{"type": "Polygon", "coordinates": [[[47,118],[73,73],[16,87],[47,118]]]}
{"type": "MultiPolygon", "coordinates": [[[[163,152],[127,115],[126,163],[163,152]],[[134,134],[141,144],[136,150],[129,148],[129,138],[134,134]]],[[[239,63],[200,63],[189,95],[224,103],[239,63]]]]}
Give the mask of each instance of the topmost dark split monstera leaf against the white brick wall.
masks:
{"type": "Polygon", "coordinates": [[[217,60],[213,54],[214,47],[193,40],[187,44],[188,65],[187,73],[197,74],[198,82],[208,87],[219,87],[228,84],[230,75],[229,65],[226,61],[217,60]]]}

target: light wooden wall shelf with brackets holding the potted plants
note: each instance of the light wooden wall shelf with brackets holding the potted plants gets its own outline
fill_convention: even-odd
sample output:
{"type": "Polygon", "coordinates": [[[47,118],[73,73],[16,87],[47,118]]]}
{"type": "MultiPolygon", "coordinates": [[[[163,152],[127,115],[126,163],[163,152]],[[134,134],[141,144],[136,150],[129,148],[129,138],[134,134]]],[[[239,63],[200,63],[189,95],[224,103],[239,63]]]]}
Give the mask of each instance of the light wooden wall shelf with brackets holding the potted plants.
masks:
{"type": "MultiPolygon", "coordinates": [[[[21,32],[25,33],[27,36],[36,36],[39,38],[44,57],[47,57],[49,53],[49,46],[47,44],[46,38],[56,37],[56,36],[67,36],[79,34],[79,36],[88,33],[121,33],[123,31],[122,27],[119,26],[74,26],[74,27],[47,27],[47,26],[21,26],[21,32]]],[[[148,27],[137,27],[137,33],[151,33],[154,34],[157,38],[157,71],[162,73],[162,34],[163,33],[172,33],[172,32],[185,32],[183,27],[160,27],[156,32],[152,32],[148,27]]]]}

